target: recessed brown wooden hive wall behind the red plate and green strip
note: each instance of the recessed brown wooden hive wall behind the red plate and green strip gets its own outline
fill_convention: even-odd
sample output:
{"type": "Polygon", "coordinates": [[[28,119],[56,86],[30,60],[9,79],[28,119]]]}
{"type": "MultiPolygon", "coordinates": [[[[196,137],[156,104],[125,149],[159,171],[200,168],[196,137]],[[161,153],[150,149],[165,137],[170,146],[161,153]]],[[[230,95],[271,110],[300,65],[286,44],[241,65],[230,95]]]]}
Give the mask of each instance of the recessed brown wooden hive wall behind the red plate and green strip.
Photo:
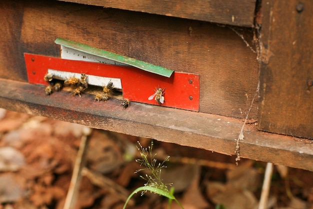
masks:
{"type": "MultiPolygon", "coordinates": [[[[60,37],[175,71],[200,74],[200,112],[244,118],[255,94],[256,54],[228,27],[57,1],[5,4],[10,8],[17,5],[23,12],[22,19],[15,19],[14,12],[2,13],[0,7],[0,17],[16,32],[8,34],[0,28],[1,36],[8,40],[4,46],[11,52],[0,56],[0,77],[26,81],[22,53],[59,56],[53,42],[60,37]]],[[[249,29],[236,30],[253,45],[249,29]]],[[[256,117],[257,102],[249,115],[256,117]]]]}

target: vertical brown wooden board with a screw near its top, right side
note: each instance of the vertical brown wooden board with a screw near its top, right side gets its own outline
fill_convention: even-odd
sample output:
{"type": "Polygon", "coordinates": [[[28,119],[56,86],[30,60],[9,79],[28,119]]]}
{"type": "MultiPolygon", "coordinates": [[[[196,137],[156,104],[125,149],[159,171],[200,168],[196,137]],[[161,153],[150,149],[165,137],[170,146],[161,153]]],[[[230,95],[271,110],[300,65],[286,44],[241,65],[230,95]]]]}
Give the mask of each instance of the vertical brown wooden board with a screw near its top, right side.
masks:
{"type": "Polygon", "coordinates": [[[260,130],[313,139],[312,12],[310,1],[262,3],[260,130]]]}

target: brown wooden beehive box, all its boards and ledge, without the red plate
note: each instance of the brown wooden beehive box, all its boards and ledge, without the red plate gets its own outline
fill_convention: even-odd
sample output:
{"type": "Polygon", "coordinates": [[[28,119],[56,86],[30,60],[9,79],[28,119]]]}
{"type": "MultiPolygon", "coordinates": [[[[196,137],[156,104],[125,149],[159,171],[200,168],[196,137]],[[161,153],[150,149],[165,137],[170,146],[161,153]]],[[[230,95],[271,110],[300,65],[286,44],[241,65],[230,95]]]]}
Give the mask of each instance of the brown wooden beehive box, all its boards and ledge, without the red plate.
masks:
{"type": "Polygon", "coordinates": [[[312,11],[293,0],[3,1],[0,107],[231,155],[243,133],[241,157],[313,170],[312,11]],[[56,38],[198,74],[198,112],[45,96],[24,53],[60,57],[56,38]]]}

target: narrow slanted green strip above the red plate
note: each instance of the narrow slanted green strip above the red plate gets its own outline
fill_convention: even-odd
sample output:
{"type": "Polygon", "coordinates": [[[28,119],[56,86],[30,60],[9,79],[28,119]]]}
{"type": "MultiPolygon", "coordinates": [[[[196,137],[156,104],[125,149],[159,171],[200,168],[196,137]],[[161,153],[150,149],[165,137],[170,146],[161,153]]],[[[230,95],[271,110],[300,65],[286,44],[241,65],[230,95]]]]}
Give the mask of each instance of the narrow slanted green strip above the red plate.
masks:
{"type": "Polygon", "coordinates": [[[133,58],[124,57],[122,55],[118,55],[118,54],[115,54],[112,52],[100,50],[100,49],[90,47],[90,46],[87,46],[84,44],[80,44],[77,42],[73,42],[73,41],[69,41],[69,40],[65,40],[65,39],[61,39],[61,38],[57,38],[54,42],[55,42],[55,44],[59,44],[59,45],[62,45],[64,47],[68,47],[68,48],[71,48],[71,49],[74,49],[74,50],[77,50],[80,52],[88,53],[88,54],[95,55],[98,57],[103,57],[103,58],[106,58],[109,60],[114,60],[116,62],[131,65],[131,66],[139,68],[141,70],[145,70],[145,71],[155,73],[155,74],[158,74],[161,76],[165,76],[168,78],[174,72],[173,70],[169,70],[167,68],[152,65],[150,63],[146,63],[146,62],[136,60],[133,58]]]}

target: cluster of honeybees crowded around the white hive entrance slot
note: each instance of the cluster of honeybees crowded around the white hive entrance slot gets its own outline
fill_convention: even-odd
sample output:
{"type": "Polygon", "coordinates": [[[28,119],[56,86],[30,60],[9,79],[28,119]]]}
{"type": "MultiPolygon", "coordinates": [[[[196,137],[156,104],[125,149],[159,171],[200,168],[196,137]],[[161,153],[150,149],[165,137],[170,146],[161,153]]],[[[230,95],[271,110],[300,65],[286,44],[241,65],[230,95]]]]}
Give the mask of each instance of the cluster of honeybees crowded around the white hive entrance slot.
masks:
{"type": "MultiPolygon", "coordinates": [[[[78,95],[81,97],[81,94],[88,89],[88,76],[82,73],[80,78],[69,77],[65,81],[60,81],[53,78],[53,74],[46,73],[43,77],[43,80],[48,82],[49,85],[45,88],[45,95],[51,95],[53,92],[60,91],[63,87],[70,91],[71,96],[78,95]]],[[[94,86],[91,88],[94,89],[94,86]]],[[[105,86],[102,87],[102,91],[91,91],[94,95],[94,101],[106,101],[113,94],[115,87],[113,82],[110,80],[105,86]]],[[[123,98],[120,102],[120,106],[124,109],[130,106],[129,99],[123,98]]]]}

